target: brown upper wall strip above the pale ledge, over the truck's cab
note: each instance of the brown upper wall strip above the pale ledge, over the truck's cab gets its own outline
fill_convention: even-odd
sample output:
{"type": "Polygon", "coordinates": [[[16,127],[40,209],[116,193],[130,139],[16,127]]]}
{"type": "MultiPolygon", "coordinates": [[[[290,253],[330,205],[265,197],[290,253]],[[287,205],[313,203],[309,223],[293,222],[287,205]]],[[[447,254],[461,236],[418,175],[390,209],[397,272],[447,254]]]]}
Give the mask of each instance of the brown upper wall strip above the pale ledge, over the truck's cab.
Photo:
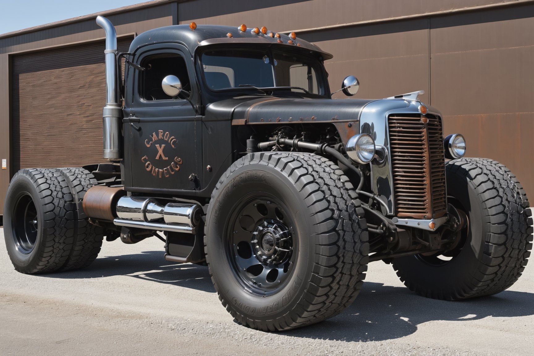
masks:
{"type": "MultiPolygon", "coordinates": [[[[517,3],[506,0],[505,3],[517,3]]],[[[367,1],[367,0],[272,0],[269,3],[249,0],[221,2],[197,0],[179,3],[180,23],[214,25],[266,26],[276,31],[308,29],[439,11],[503,3],[498,0],[443,1],[367,1]],[[272,28],[271,28],[272,27],[272,28]]]]}

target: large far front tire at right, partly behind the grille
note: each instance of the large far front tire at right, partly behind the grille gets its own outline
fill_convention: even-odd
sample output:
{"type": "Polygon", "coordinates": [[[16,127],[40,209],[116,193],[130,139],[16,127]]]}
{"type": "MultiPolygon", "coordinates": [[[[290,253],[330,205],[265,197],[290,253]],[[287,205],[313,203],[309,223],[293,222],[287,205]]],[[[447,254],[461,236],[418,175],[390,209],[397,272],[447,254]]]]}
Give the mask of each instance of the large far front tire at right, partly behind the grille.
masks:
{"type": "Polygon", "coordinates": [[[513,173],[497,161],[446,164],[449,203],[467,214],[460,243],[447,254],[395,258],[393,267],[412,291],[436,299],[496,294],[519,278],[532,248],[529,202],[513,173]],[[452,257],[452,258],[451,258],[452,257]]]}

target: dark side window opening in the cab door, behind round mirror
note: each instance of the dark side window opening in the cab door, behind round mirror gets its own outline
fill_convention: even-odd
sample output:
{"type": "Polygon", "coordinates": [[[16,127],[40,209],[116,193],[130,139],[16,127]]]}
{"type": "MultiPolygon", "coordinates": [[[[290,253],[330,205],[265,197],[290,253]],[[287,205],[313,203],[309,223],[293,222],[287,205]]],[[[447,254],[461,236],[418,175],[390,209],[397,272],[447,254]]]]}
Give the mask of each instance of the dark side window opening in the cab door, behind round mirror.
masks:
{"type": "MultiPolygon", "coordinates": [[[[146,58],[141,66],[145,68],[140,72],[141,80],[139,95],[147,101],[152,100],[170,100],[169,97],[161,88],[161,81],[168,75],[175,75],[182,82],[182,89],[191,91],[189,74],[187,73],[187,66],[185,60],[177,54],[167,56],[154,56],[146,58]]],[[[182,97],[182,94],[180,94],[182,97]]]]}

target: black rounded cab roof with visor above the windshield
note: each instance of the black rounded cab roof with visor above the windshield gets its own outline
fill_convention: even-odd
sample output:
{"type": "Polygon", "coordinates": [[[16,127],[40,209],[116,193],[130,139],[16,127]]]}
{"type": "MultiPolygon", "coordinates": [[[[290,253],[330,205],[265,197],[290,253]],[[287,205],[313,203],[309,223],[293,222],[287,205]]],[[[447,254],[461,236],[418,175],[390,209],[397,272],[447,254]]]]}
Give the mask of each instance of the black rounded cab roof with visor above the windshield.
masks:
{"type": "MultiPolygon", "coordinates": [[[[196,26],[196,25],[195,25],[196,26]]],[[[145,31],[133,39],[130,45],[130,52],[135,52],[138,48],[159,42],[181,42],[193,54],[198,48],[208,45],[227,44],[227,45],[268,45],[276,46],[278,50],[285,51],[303,51],[309,50],[323,57],[323,60],[331,59],[330,53],[323,52],[318,46],[299,37],[292,39],[289,35],[278,34],[273,31],[267,31],[263,34],[253,33],[254,28],[247,28],[241,31],[239,27],[218,26],[218,25],[198,25],[192,29],[192,25],[175,25],[155,28],[145,31]],[[271,37],[272,35],[272,37],[271,37]],[[277,36],[280,36],[279,38],[277,36]]]]}

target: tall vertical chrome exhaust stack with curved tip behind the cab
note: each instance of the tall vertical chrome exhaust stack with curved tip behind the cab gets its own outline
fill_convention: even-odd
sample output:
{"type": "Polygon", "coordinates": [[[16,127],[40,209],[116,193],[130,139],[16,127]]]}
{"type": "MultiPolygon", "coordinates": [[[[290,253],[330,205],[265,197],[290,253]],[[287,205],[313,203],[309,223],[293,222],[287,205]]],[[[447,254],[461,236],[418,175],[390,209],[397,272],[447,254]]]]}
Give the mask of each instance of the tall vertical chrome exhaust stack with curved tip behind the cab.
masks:
{"type": "Polygon", "coordinates": [[[120,161],[121,157],[121,125],[122,108],[119,104],[117,90],[117,33],[111,21],[97,16],[97,24],[106,31],[106,106],[103,113],[104,129],[104,158],[110,161],[120,161]]]}

